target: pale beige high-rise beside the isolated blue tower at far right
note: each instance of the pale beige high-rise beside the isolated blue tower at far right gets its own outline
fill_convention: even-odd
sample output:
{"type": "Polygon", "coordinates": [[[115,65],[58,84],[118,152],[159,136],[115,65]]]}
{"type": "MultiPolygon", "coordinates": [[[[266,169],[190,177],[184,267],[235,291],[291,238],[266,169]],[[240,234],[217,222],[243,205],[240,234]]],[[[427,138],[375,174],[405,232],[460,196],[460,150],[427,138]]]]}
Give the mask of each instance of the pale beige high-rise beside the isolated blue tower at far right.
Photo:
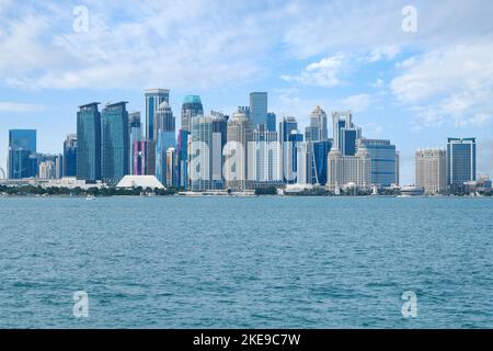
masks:
{"type": "Polygon", "coordinates": [[[443,149],[417,150],[415,154],[416,186],[428,194],[447,190],[447,151],[443,149]]]}

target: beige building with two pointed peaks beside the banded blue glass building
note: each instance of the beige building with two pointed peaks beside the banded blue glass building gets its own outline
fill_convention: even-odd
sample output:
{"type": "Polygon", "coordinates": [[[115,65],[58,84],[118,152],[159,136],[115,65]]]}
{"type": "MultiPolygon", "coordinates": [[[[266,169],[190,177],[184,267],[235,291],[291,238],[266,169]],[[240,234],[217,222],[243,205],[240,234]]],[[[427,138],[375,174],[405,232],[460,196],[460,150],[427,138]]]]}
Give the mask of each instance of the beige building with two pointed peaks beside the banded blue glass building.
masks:
{"type": "Polygon", "coordinates": [[[358,140],[355,156],[344,156],[334,144],[328,156],[328,181],[330,190],[346,185],[369,188],[371,185],[371,159],[365,144],[358,140]]]}

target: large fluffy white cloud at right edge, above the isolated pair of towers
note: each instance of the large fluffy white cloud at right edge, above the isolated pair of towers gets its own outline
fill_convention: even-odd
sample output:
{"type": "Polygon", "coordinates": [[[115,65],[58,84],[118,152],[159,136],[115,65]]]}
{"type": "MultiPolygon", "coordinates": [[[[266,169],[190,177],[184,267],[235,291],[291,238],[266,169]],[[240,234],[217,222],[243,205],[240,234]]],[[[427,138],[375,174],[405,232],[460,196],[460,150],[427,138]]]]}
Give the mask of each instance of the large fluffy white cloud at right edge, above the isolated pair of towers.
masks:
{"type": "MultiPolygon", "coordinates": [[[[398,65],[390,87],[425,125],[480,125],[493,112],[493,44],[439,47],[398,65]],[[472,117],[471,117],[472,116],[472,117]],[[478,117],[479,116],[479,117],[478,117]]],[[[417,121],[417,123],[420,123],[417,121]]]]}

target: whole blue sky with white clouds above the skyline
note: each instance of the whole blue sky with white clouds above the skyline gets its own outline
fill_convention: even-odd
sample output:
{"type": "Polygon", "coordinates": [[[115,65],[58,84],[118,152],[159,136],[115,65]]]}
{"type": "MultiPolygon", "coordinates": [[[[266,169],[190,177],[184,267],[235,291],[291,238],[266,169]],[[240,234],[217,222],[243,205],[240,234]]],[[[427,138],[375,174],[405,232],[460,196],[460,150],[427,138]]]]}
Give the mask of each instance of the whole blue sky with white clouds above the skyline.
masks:
{"type": "Polygon", "coordinates": [[[144,111],[145,88],[168,88],[176,115],[186,94],[232,113],[250,91],[302,128],[318,104],[351,109],[365,137],[398,146],[403,183],[416,148],[475,136],[493,177],[492,18],[488,0],[0,0],[0,167],[9,128],[36,128],[38,150],[60,152],[78,105],[144,111]]]}

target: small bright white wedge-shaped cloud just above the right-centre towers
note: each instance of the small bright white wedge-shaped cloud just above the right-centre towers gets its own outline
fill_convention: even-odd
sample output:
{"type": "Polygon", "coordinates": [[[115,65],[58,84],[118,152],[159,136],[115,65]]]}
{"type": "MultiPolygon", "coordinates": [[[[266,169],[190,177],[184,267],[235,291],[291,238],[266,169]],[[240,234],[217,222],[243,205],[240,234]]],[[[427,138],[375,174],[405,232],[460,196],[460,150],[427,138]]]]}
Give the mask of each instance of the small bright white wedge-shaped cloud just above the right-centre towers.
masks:
{"type": "Polygon", "coordinates": [[[303,86],[333,88],[342,83],[340,75],[343,70],[345,56],[337,54],[320,61],[312,63],[297,76],[282,76],[285,81],[295,81],[303,86]]]}

